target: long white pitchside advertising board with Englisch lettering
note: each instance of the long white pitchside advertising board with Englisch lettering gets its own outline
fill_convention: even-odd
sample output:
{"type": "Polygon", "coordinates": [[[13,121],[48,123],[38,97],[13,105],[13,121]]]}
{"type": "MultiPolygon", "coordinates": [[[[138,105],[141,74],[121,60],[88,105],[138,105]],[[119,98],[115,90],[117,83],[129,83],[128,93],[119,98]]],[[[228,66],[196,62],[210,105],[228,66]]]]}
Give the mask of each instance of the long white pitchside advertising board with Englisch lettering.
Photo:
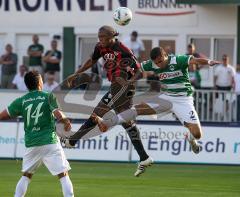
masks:
{"type": "MultiPolygon", "coordinates": [[[[239,127],[203,126],[203,137],[199,141],[202,151],[194,154],[184,139],[186,129],[182,126],[138,124],[144,147],[156,162],[240,164],[239,127]]],[[[77,130],[81,124],[73,124],[77,130]]],[[[22,157],[24,154],[23,123],[0,123],[0,157],[22,157]],[[17,142],[17,143],[16,143],[17,142]],[[17,147],[15,147],[15,145],[17,147]]],[[[94,131],[93,131],[94,132],[94,131]]],[[[76,149],[64,149],[67,158],[93,161],[137,161],[131,142],[121,126],[91,139],[80,140],[76,149]]]]}

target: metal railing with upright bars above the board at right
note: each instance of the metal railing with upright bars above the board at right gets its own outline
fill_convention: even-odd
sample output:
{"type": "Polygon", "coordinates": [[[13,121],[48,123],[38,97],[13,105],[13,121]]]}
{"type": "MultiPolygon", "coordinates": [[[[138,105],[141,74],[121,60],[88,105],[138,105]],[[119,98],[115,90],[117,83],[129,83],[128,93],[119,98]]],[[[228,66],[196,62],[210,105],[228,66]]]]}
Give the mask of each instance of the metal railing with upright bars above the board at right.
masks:
{"type": "Polygon", "coordinates": [[[194,104],[201,121],[237,121],[237,95],[234,92],[195,90],[194,104]]]}

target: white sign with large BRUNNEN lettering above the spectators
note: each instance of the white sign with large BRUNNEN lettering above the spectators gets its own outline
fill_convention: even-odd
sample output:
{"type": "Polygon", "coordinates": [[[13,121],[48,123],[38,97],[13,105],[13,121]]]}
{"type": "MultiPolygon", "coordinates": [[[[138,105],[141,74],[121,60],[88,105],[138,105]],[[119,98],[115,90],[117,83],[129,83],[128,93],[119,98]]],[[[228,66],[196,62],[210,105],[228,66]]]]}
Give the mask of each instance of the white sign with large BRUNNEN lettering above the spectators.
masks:
{"type": "Polygon", "coordinates": [[[97,20],[113,25],[113,10],[129,7],[134,20],[130,25],[194,26],[197,9],[193,5],[176,4],[174,0],[68,0],[6,1],[0,0],[0,24],[4,27],[90,27],[99,28],[97,20]],[[54,17],[53,17],[54,16],[54,17]],[[8,22],[4,19],[8,18],[8,22]],[[39,20],[41,19],[41,20],[39,20]]]}

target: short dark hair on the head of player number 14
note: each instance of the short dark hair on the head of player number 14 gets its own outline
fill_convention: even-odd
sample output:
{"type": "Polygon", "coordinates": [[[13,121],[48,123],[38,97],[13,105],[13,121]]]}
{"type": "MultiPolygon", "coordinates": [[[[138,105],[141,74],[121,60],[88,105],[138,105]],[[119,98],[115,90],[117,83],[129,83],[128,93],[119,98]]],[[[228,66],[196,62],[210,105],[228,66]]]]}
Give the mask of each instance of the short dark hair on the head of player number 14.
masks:
{"type": "Polygon", "coordinates": [[[28,90],[37,90],[41,75],[37,71],[27,72],[24,76],[24,82],[28,90]]]}

